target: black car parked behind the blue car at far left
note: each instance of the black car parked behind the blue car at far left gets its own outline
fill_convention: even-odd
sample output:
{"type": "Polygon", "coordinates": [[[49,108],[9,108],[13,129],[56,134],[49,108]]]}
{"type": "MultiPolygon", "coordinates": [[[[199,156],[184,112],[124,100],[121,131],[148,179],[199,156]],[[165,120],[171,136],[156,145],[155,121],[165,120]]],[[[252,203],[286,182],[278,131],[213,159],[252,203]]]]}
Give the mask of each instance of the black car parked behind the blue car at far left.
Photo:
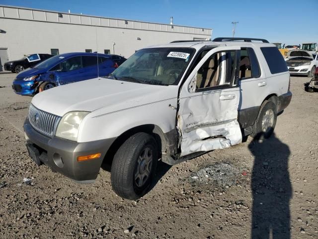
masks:
{"type": "Polygon", "coordinates": [[[53,55],[50,54],[31,54],[26,55],[20,60],[16,61],[7,61],[4,63],[5,71],[12,71],[15,73],[19,73],[26,68],[33,67],[38,63],[51,58],[53,55]]]}

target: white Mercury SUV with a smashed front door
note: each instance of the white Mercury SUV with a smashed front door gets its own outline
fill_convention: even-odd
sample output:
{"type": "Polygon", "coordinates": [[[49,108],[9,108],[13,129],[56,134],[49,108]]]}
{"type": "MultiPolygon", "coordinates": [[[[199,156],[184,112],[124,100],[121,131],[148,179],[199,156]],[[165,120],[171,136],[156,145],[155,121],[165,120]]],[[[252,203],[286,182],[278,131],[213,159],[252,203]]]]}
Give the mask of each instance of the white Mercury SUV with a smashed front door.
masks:
{"type": "Polygon", "coordinates": [[[113,190],[137,199],[158,159],[173,165],[269,137],[291,101],[290,76],[274,44],[252,40],[148,47],[108,77],[36,95],[24,123],[30,156],[79,183],[111,164],[113,190]]]}

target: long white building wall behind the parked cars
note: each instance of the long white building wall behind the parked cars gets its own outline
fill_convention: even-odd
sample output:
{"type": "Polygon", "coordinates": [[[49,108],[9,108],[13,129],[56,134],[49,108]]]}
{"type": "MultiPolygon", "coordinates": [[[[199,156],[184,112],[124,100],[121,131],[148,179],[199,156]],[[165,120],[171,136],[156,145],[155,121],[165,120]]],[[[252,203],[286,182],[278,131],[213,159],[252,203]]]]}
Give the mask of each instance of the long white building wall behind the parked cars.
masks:
{"type": "Polygon", "coordinates": [[[174,40],[210,39],[212,29],[152,22],[59,13],[0,5],[0,48],[8,48],[10,60],[31,53],[51,53],[59,49],[83,52],[85,49],[129,57],[149,45],[174,40]],[[59,17],[62,14],[63,17],[59,17]],[[97,35],[96,35],[97,34],[97,35]],[[138,40],[137,38],[140,38],[138,40]],[[113,52],[113,45],[114,52],[113,52]]]}

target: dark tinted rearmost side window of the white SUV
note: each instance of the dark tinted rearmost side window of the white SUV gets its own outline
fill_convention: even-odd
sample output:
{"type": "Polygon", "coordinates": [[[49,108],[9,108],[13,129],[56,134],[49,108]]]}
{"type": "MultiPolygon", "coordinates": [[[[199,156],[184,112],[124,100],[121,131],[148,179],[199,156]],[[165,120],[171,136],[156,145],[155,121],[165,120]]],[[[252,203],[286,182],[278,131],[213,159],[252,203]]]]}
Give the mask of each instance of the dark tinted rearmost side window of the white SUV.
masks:
{"type": "Polygon", "coordinates": [[[260,49],[265,57],[270,73],[276,74],[288,71],[286,62],[277,47],[261,47],[260,49]]]}

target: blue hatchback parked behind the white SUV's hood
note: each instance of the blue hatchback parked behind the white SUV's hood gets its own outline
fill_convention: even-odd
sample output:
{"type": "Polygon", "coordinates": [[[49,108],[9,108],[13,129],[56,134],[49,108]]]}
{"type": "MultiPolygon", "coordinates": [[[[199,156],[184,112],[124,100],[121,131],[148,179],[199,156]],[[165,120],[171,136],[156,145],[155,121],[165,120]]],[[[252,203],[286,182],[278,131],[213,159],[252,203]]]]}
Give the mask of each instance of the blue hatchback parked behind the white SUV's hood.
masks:
{"type": "Polygon", "coordinates": [[[34,96],[56,86],[106,76],[117,67],[109,55],[65,53],[21,71],[13,81],[12,89],[19,95],[34,96]]]}

